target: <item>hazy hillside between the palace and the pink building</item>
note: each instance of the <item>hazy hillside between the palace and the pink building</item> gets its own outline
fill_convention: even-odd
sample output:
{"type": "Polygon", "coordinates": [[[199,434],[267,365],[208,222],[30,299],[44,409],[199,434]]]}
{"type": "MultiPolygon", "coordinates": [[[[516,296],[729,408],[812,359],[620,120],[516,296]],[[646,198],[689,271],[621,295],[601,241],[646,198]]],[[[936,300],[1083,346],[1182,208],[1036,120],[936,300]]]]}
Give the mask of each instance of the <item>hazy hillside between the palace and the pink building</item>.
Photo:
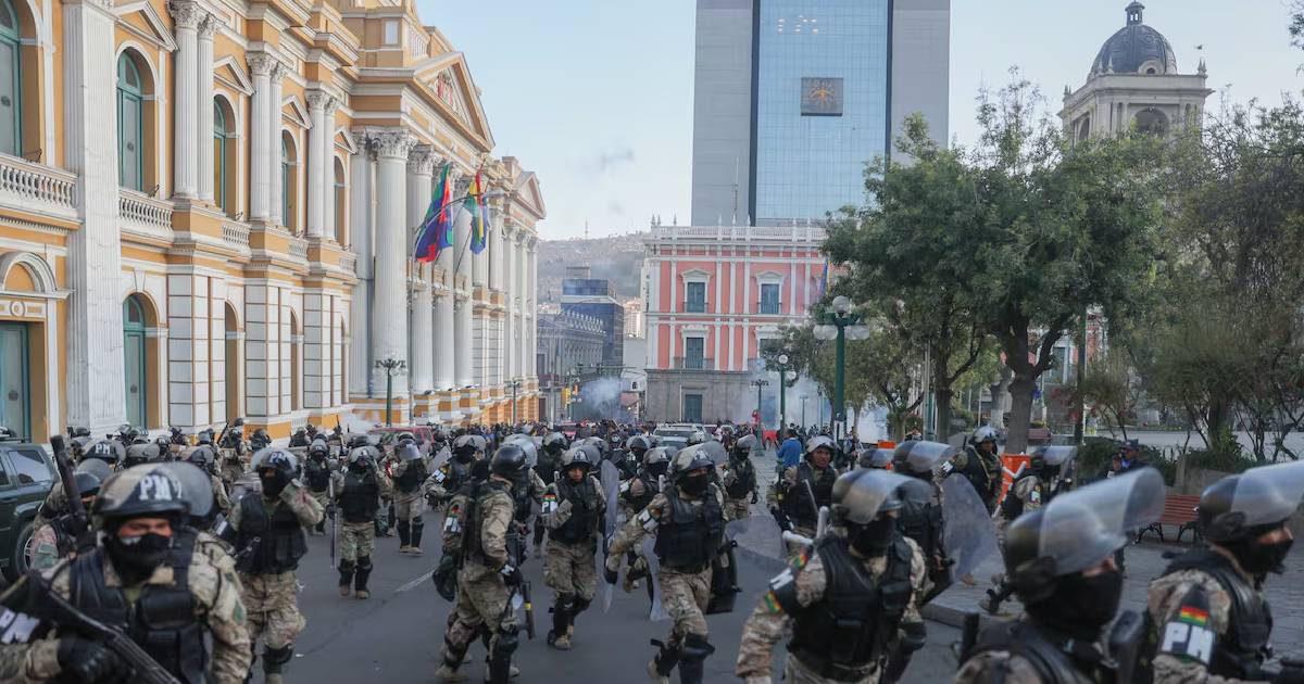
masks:
{"type": "Polygon", "coordinates": [[[561,301],[562,279],[569,266],[588,266],[592,278],[610,280],[617,298],[638,297],[645,236],[642,232],[588,240],[540,240],[539,302],[561,301]]]}

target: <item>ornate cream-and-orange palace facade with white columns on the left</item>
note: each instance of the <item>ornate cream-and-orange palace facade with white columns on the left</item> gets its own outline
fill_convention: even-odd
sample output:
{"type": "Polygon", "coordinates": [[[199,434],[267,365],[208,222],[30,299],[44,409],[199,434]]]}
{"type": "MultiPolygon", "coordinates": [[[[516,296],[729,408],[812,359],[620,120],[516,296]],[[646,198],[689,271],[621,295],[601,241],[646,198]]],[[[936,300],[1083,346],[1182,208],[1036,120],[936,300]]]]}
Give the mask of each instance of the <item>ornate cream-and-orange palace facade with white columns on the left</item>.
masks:
{"type": "Polygon", "coordinates": [[[408,366],[398,420],[503,416],[507,378],[528,410],[539,184],[490,156],[466,60],[411,3],[4,5],[21,77],[0,81],[0,422],[244,416],[283,436],[378,418],[386,357],[408,366]],[[501,229],[415,268],[442,164],[501,189],[501,229]],[[476,321],[479,377],[460,370],[476,321]],[[454,350],[458,377],[437,366],[454,350]]]}

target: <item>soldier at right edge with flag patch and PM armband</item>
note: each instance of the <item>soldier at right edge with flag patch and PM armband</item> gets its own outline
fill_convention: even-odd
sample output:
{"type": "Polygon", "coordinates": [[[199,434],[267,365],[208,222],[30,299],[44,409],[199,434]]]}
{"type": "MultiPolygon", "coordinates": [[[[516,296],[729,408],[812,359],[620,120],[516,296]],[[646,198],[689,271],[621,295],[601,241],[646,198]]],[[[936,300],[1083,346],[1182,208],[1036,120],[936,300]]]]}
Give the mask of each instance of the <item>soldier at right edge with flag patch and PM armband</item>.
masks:
{"type": "MultiPolygon", "coordinates": [[[[1120,477],[1131,476],[1106,482],[1120,477]]],[[[1155,684],[1304,681],[1297,666],[1284,672],[1264,667],[1273,619],[1262,593],[1267,573],[1284,569],[1294,542],[1287,521],[1301,492],[1304,463],[1287,463],[1224,477],[1200,495],[1205,546],[1187,551],[1150,582],[1155,684]]]]}

